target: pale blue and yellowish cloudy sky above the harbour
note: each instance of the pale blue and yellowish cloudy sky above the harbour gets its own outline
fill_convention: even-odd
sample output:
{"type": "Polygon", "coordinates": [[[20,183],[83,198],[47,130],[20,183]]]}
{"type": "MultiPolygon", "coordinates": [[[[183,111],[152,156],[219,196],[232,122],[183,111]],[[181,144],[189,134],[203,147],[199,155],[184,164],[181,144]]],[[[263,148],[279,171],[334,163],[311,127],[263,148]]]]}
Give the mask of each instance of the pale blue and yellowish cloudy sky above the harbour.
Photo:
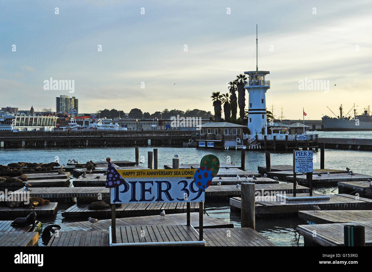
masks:
{"type": "Polygon", "coordinates": [[[345,114],[354,104],[372,105],[371,1],[13,0],[0,6],[1,107],[55,111],[55,97],[70,95],[78,98],[79,113],[213,112],[212,92],[226,93],[228,81],[256,70],[256,24],[259,70],[270,71],[266,107],[273,105],[276,117],[281,108],[285,119],[302,119],[302,108],[307,119],[320,119],[334,117],[327,106],[338,115],[340,104],[345,114]],[[45,90],[50,78],[74,80],[74,92],[45,90]],[[305,79],[325,85],[301,89],[305,79]]]}

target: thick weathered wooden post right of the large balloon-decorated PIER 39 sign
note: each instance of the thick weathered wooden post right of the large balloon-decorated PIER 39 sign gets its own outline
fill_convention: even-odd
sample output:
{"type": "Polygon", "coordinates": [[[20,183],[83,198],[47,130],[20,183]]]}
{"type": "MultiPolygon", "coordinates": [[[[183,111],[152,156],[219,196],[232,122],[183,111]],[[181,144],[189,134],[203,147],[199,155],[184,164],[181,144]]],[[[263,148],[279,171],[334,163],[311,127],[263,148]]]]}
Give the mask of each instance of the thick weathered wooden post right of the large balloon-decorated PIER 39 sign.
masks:
{"type": "Polygon", "coordinates": [[[255,229],[255,198],[256,184],[250,182],[241,183],[241,227],[255,229]]]}

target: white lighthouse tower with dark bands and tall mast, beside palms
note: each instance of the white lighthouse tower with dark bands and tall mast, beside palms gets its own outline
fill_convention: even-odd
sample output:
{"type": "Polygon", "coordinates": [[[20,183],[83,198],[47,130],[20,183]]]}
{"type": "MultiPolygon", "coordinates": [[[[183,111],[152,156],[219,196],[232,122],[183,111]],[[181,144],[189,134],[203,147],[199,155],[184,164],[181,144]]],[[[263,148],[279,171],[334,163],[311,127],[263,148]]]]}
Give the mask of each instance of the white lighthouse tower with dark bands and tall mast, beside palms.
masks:
{"type": "MultiPolygon", "coordinates": [[[[256,30],[257,31],[257,30],[256,30]]],[[[256,32],[257,35],[257,32],[256,32]]],[[[257,36],[256,36],[257,54],[257,36]]],[[[244,89],[248,91],[248,128],[251,134],[267,134],[266,124],[266,91],[270,88],[270,81],[266,80],[269,71],[258,71],[258,58],[256,58],[256,71],[244,72],[247,81],[244,89]]]]}

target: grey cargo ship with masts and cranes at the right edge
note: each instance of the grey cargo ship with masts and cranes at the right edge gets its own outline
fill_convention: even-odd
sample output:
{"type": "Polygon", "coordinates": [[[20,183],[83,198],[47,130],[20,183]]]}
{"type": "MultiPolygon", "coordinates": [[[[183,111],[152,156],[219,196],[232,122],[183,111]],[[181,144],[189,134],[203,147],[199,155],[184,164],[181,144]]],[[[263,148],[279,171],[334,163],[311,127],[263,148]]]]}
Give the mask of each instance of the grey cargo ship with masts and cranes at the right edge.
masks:
{"type": "Polygon", "coordinates": [[[343,115],[342,104],[339,109],[340,115],[337,116],[337,118],[331,118],[327,115],[324,115],[322,117],[325,131],[372,130],[372,117],[371,115],[369,115],[369,106],[368,110],[365,109],[362,114],[356,115],[356,109],[354,105],[354,117],[349,114],[351,109],[346,114],[349,115],[348,117],[343,115]]]}

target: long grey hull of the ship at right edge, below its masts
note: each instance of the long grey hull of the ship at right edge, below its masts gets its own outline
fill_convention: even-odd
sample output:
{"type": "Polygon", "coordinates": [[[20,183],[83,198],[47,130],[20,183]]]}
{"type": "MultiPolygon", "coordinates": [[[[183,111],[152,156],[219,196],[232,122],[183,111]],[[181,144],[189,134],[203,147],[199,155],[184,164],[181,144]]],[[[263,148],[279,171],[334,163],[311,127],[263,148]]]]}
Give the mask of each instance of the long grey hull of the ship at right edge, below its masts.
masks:
{"type": "Polygon", "coordinates": [[[372,122],[359,122],[338,118],[322,118],[325,131],[371,130],[372,122]]]}

